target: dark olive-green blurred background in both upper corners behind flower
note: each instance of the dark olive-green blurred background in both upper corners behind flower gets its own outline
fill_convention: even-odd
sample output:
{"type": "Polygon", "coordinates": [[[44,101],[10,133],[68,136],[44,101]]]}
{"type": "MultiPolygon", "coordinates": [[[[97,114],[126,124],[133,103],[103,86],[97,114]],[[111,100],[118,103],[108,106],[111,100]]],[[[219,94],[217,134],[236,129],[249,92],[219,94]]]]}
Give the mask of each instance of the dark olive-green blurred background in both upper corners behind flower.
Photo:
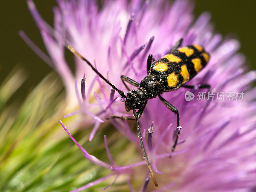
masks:
{"type": "MultiPolygon", "coordinates": [[[[34,0],[37,9],[50,25],[52,25],[52,7],[54,0],[34,0]]],[[[256,1],[246,0],[196,0],[195,15],[204,11],[212,14],[212,23],[216,32],[223,36],[232,33],[241,42],[241,50],[247,57],[247,63],[256,69],[255,55],[255,8],[256,1]]],[[[13,99],[22,101],[47,74],[52,71],[18,35],[20,29],[32,39],[44,52],[41,35],[32,19],[25,0],[2,1],[1,7],[1,62],[0,82],[10,73],[16,65],[25,69],[28,79],[13,99]]]]}

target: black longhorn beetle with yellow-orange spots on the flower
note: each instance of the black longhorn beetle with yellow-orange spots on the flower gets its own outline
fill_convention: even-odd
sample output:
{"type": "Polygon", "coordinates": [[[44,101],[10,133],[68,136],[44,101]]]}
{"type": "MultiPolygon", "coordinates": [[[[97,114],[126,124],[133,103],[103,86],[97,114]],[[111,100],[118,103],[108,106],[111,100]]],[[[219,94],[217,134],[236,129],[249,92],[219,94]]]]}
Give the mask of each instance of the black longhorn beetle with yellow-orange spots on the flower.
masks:
{"type": "MultiPolygon", "coordinates": [[[[165,55],[163,58],[159,60],[155,60],[152,54],[148,55],[147,60],[147,72],[148,75],[142,79],[142,81],[137,83],[127,76],[121,76],[122,82],[125,87],[128,89],[127,95],[124,94],[123,91],[119,90],[116,85],[111,84],[108,79],[100,74],[100,72],[92,66],[92,64],[86,60],[82,55],[80,55],[76,50],[70,45],[68,48],[71,52],[73,52],[76,56],[80,57],[84,60],[91,68],[95,71],[106,83],[108,83],[114,90],[116,90],[124,99],[125,99],[125,108],[126,111],[133,111],[133,118],[124,117],[124,116],[110,116],[110,118],[120,118],[123,120],[135,120],[136,127],[138,130],[138,135],[140,139],[140,146],[142,148],[143,156],[146,160],[146,164],[148,166],[149,174],[155,184],[157,185],[155,176],[152,172],[151,165],[148,161],[148,157],[142,142],[142,136],[140,133],[140,124],[139,118],[141,117],[143,110],[146,107],[146,104],[149,99],[156,98],[157,96],[164,103],[164,105],[169,108],[173,113],[177,115],[177,127],[180,126],[180,116],[178,110],[167,100],[165,100],[161,93],[170,92],[178,89],[180,86],[185,88],[194,88],[196,85],[184,85],[190,79],[192,79],[202,68],[205,67],[207,62],[209,61],[210,55],[204,52],[204,48],[200,45],[190,45],[180,47],[182,39],[180,39],[171,49],[171,52],[165,55]],[[177,49],[180,47],[179,49],[177,49]],[[152,60],[154,62],[152,63],[152,60]],[[132,84],[138,87],[137,90],[130,90],[129,87],[125,84],[125,82],[132,84]],[[138,111],[136,111],[138,109],[138,111]]],[[[210,89],[210,85],[201,84],[198,88],[208,88],[210,89]]],[[[109,119],[110,119],[109,118],[109,119]]],[[[171,151],[173,152],[177,142],[178,137],[180,135],[180,130],[176,133],[176,139],[172,146],[171,151]]]]}

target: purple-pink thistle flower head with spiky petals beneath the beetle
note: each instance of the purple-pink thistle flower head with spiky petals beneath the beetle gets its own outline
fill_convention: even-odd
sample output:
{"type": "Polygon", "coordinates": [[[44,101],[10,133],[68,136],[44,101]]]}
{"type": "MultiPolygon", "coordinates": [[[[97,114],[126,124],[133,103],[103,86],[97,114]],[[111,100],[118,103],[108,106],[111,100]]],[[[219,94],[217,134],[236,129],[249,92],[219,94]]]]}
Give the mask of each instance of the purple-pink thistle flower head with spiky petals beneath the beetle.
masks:
{"type": "MultiPolygon", "coordinates": [[[[147,179],[141,191],[250,191],[255,189],[256,179],[256,125],[255,93],[251,87],[255,71],[246,72],[245,58],[237,53],[239,42],[236,39],[222,39],[213,33],[209,23],[210,14],[202,13],[193,22],[193,5],[177,0],[172,5],[168,1],[109,1],[98,11],[93,1],[58,0],[59,7],[54,11],[54,28],[50,27],[39,15],[32,1],[29,9],[40,29],[50,58],[36,49],[36,52],[49,61],[62,78],[66,87],[67,99],[80,109],[87,124],[95,123],[90,136],[92,140],[100,123],[109,115],[132,116],[125,111],[124,103],[111,87],[103,82],[92,69],[79,58],[75,59],[76,73],[72,75],[65,60],[64,49],[70,44],[87,60],[94,63],[100,73],[119,89],[125,91],[121,75],[129,76],[140,82],[147,74],[146,59],[152,53],[159,59],[170,51],[172,46],[183,38],[182,46],[200,44],[210,53],[207,66],[188,85],[210,84],[208,100],[185,100],[186,91],[200,95],[204,90],[179,88],[164,93],[163,97],[171,102],[180,114],[179,142],[176,152],[170,153],[174,143],[173,132],[179,127],[176,115],[166,108],[159,99],[148,100],[147,107],[140,118],[142,137],[160,188],[148,185],[147,179]],[[85,76],[86,73],[86,82],[85,76]],[[75,79],[83,77],[81,95],[74,89],[75,79]],[[95,82],[97,81],[97,84],[95,82]],[[85,86],[86,84],[86,86],[85,86]],[[93,91],[94,94],[93,94],[93,91]],[[201,92],[201,93],[200,93],[201,92]],[[216,100],[217,93],[244,93],[242,100],[216,100]],[[81,100],[81,97],[83,100],[81,100]],[[93,118],[92,118],[93,117],[93,118]],[[96,121],[92,121],[95,119],[96,121]],[[146,129],[154,121],[154,132],[148,135],[146,129]],[[187,150],[189,148],[189,150],[187,150]],[[181,155],[177,155],[180,154],[181,155]],[[174,156],[177,155],[177,156],[174,156]],[[172,158],[168,158],[172,156],[172,158]],[[161,171],[161,172],[160,172],[161,171]],[[162,174],[160,174],[162,173],[162,174]],[[172,183],[175,183],[174,185],[172,183]],[[166,187],[164,187],[166,186],[166,187]]],[[[28,42],[27,37],[21,36],[28,42]]],[[[34,47],[33,44],[30,44],[34,47]]],[[[226,96],[227,96],[226,95],[226,96]]],[[[65,117],[67,117],[65,116],[65,117]]],[[[130,141],[140,148],[137,135],[127,122],[110,122],[130,141]]],[[[61,121],[60,121],[61,123],[61,121]]],[[[66,132],[67,129],[61,123],[66,132]]],[[[84,156],[92,163],[110,169],[113,174],[96,180],[75,191],[95,185],[111,176],[132,172],[132,168],[144,165],[141,160],[131,165],[116,165],[115,157],[110,155],[107,139],[105,146],[111,164],[100,161],[88,154],[68,133],[84,156]]],[[[141,172],[140,172],[141,173],[141,172]]],[[[148,178],[147,169],[141,178],[148,178]]],[[[114,179],[116,180],[116,179],[114,179]]],[[[135,191],[128,180],[131,191],[135,191]]]]}

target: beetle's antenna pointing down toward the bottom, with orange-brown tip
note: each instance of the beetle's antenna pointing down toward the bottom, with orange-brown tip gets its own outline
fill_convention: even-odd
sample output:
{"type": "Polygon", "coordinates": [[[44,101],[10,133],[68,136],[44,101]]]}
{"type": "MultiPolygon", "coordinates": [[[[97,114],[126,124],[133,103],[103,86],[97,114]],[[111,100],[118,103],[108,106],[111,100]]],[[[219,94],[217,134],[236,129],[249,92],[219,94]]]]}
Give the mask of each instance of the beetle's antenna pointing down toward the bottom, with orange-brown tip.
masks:
{"type": "Polygon", "coordinates": [[[148,171],[149,171],[150,177],[152,178],[155,186],[157,187],[158,184],[156,182],[155,175],[154,175],[154,173],[152,171],[151,165],[150,165],[150,163],[148,161],[148,156],[147,156],[146,151],[145,151],[145,147],[143,145],[142,136],[141,136],[141,132],[140,132],[140,124],[139,124],[139,120],[138,120],[138,113],[136,112],[135,108],[133,108],[133,116],[134,116],[134,118],[136,120],[136,127],[137,127],[137,130],[138,130],[138,135],[139,135],[139,139],[140,139],[140,147],[141,147],[142,152],[143,152],[143,157],[144,157],[144,159],[146,161],[146,164],[148,166],[148,171]]]}

